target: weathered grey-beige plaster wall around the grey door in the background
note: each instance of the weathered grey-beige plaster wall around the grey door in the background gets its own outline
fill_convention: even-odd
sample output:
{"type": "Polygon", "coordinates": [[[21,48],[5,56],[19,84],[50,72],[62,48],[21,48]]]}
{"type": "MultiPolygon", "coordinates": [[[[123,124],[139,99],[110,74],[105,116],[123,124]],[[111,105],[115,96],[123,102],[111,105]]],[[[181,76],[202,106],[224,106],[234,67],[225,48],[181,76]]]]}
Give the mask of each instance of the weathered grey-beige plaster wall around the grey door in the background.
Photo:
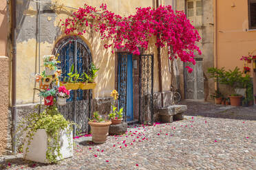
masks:
{"type": "MultiPolygon", "coordinates": [[[[186,11],[186,0],[176,0],[175,10],[186,11]]],[[[214,81],[209,79],[207,69],[214,66],[214,28],[213,28],[213,0],[202,0],[202,26],[196,27],[202,40],[198,43],[200,50],[202,51],[201,56],[203,58],[203,72],[204,72],[204,99],[209,100],[210,94],[214,93],[214,81]]],[[[179,62],[180,66],[180,90],[184,97],[184,71],[183,63],[179,62]]],[[[186,71],[186,70],[185,70],[186,71]]]]}

